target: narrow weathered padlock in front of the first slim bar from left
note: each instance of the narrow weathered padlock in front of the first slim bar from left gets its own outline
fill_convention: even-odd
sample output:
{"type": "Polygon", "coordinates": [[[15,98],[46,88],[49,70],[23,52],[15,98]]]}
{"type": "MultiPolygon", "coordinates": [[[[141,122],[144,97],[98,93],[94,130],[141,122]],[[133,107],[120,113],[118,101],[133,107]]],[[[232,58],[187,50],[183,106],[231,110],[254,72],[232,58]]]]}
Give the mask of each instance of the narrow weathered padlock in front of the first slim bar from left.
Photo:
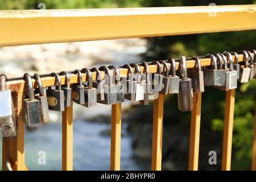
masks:
{"type": "Polygon", "coordinates": [[[67,72],[60,72],[60,75],[64,75],[66,78],[65,85],[61,86],[61,89],[64,92],[64,106],[69,107],[71,106],[71,96],[72,96],[72,89],[70,88],[70,77],[67,72]]]}

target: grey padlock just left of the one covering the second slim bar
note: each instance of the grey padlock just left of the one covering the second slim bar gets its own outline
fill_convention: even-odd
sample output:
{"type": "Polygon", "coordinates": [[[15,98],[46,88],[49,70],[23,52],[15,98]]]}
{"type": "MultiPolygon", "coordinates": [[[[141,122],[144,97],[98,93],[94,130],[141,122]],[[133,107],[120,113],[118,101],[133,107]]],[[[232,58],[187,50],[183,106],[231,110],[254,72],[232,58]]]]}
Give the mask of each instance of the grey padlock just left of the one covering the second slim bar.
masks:
{"type": "Polygon", "coordinates": [[[117,94],[115,93],[115,85],[112,84],[112,76],[108,67],[100,67],[100,71],[104,71],[104,80],[107,84],[104,84],[104,100],[98,101],[101,104],[117,104],[117,94]]]}

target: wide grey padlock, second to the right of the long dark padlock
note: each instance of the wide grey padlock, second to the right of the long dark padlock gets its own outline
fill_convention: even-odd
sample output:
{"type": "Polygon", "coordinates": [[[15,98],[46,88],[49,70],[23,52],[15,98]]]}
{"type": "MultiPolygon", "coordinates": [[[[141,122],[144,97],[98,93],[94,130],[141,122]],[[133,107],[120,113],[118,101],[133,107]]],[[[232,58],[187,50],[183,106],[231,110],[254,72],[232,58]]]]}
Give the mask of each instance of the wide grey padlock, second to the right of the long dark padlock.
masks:
{"type": "Polygon", "coordinates": [[[205,86],[218,86],[220,85],[220,72],[217,70],[217,60],[216,57],[212,54],[207,54],[205,57],[208,57],[212,60],[212,69],[204,70],[204,85],[205,86]]]}

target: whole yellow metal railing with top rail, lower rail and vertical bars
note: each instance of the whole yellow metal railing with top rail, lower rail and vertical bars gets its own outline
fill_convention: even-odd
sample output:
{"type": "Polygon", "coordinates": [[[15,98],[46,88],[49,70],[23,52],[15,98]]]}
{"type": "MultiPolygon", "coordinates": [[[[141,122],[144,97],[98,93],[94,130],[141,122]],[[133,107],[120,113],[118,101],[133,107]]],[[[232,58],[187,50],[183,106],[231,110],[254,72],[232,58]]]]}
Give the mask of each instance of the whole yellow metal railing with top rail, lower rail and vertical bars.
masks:
{"type": "MultiPolygon", "coordinates": [[[[134,38],[163,35],[198,34],[205,32],[240,31],[256,29],[256,5],[159,7],[136,9],[88,9],[88,10],[23,10],[1,11],[0,46],[39,44],[55,42],[76,42],[85,40],[134,38]],[[189,19],[189,21],[187,21],[189,19]]],[[[243,55],[238,55],[243,61],[243,55]]],[[[200,58],[201,66],[207,67],[211,60],[200,58]]],[[[187,68],[195,67],[195,61],[188,59],[187,68]]],[[[144,71],[143,67],[140,67],[144,71]]],[[[150,65],[150,72],[156,72],[156,65],[150,65]]],[[[176,63],[176,69],[180,69],[176,63]]],[[[127,69],[119,69],[121,77],[127,76],[127,69]]],[[[96,73],[92,73],[96,80],[96,73]]],[[[104,78],[104,72],[101,72],[104,78]]],[[[65,77],[60,76],[65,84],[65,77]]],[[[82,74],[82,80],[88,77],[82,74]]],[[[79,82],[77,75],[70,76],[70,84],[79,82]]],[[[33,82],[36,88],[35,82],[33,82]]],[[[44,87],[56,85],[54,77],[42,77],[44,87]]],[[[17,136],[3,138],[3,170],[11,160],[14,170],[25,169],[24,158],[24,81],[7,82],[12,91],[16,118],[17,136]]],[[[189,170],[197,170],[199,156],[201,93],[194,94],[194,109],[191,113],[191,138],[189,147],[189,170]]],[[[235,90],[226,92],[226,111],[222,169],[229,170],[231,162],[232,130],[235,90]]],[[[152,137],[152,170],[160,170],[162,162],[164,96],[154,101],[152,137]]],[[[63,121],[63,170],[73,169],[73,107],[65,108],[63,121]]],[[[256,121],[255,121],[256,122],[256,121]]],[[[256,131],[255,131],[256,132],[256,131]]],[[[120,169],[121,152],[121,104],[112,105],[110,169],[120,169]]],[[[256,166],[254,137],[253,169],[256,166]]]]}

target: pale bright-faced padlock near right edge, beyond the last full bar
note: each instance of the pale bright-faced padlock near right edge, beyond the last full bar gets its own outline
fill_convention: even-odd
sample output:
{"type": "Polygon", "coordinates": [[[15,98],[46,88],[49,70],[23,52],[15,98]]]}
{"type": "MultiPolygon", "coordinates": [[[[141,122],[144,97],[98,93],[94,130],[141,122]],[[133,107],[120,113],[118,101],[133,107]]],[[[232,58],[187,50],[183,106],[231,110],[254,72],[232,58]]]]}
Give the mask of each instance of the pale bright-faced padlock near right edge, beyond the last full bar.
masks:
{"type": "Polygon", "coordinates": [[[239,76],[238,81],[241,83],[245,83],[245,82],[249,81],[250,72],[251,72],[251,69],[248,67],[249,55],[246,51],[240,51],[239,53],[243,54],[243,62],[245,63],[245,65],[241,66],[240,76],[239,76]]]}

